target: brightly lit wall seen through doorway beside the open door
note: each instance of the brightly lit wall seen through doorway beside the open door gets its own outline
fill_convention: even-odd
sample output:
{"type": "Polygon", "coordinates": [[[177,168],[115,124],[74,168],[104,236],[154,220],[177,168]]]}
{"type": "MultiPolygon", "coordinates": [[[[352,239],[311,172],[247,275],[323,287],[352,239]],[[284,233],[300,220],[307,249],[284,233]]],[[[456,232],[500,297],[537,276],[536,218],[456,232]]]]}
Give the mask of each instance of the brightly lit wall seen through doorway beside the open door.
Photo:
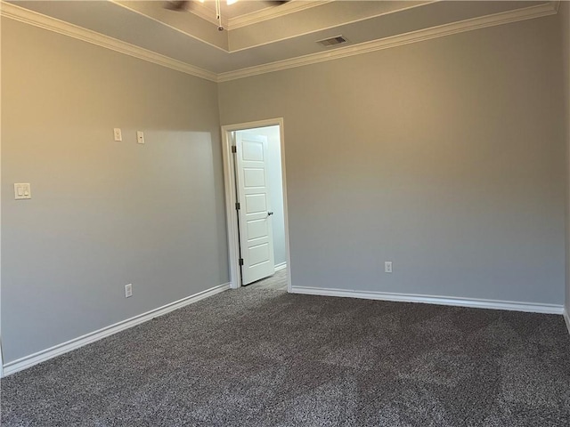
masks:
{"type": "Polygon", "coordinates": [[[283,184],[281,174],[281,137],[279,126],[265,126],[250,129],[267,137],[269,150],[269,188],[271,191],[271,208],[273,210],[273,256],[275,265],[287,262],[285,245],[285,214],[283,213],[283,184]]]}

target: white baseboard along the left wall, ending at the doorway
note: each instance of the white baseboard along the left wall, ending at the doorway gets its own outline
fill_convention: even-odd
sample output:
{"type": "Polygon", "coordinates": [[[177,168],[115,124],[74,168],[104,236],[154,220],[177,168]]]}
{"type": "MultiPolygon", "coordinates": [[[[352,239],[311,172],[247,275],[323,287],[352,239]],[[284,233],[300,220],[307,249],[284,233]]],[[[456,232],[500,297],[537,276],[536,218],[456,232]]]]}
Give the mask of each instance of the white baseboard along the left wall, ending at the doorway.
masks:
{"type": "Polygon", "coordinates": [[[206,291],[199,292],[198,294],[193,294],[183,298],[182,300],[178,300],[175,302],[170,302],[169,304],[163,305],[158,309],[147,311],[146,313],[142,313],[138,316],[134,316],[133,318],[127,318],[121,322],[118,322],[114,325],[103,327],[97,331],[94,331],[89,334],[85,334],[69,340],[68,342],[62,342],[61,344],[54,345],[49,349],[37,351],[37,353],[30,354],[29,356],[25,356],[20,359],[13,360],[12,362],[6,363],[3,367],[3,374],[4,375],[11,375],[22,369],[26,369],[28,367],[33,367],[38,363],[45,362],[45,360],[53,359],[56,356],[60,356],[63,353],[67,353],[71,350],[76,350],[79,347],[83,347],[86,344],[91,342],[99,341],[106,336],[117,334],[120,331],[128,329],[129,327],[133,327],[136,325],[140,325],[152,318],[158,318],[159,316],[163,316],[170,311],[178,310],[186,305],[189,305],[193,302],[199,302],[204,298],[208,298],[208,296],[212,296],[214,294],[219,294],[220,292],[224,292],[226,289],[230,288],[229,283],[225,283],[224,285],[214,286],[206,291]]]}

